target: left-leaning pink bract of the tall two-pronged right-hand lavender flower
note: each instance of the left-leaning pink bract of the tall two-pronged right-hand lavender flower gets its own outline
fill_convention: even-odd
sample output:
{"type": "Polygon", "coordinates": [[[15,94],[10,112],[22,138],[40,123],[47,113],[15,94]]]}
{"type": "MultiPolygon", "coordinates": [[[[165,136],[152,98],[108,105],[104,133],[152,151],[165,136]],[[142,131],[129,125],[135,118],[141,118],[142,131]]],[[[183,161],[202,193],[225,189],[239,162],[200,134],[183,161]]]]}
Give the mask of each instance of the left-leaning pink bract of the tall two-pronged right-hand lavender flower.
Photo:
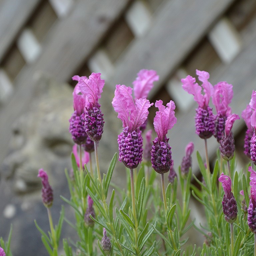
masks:
{"type": "Polygon", "coordinates": [[[194,96],[194,100],[198,103],[199,107],[204,106],[204,96],[202,95],[201,86],[196,83],[196,79],[192,76],[187,76],[185,79],[181,79],[182,88],[194,96]]]}

